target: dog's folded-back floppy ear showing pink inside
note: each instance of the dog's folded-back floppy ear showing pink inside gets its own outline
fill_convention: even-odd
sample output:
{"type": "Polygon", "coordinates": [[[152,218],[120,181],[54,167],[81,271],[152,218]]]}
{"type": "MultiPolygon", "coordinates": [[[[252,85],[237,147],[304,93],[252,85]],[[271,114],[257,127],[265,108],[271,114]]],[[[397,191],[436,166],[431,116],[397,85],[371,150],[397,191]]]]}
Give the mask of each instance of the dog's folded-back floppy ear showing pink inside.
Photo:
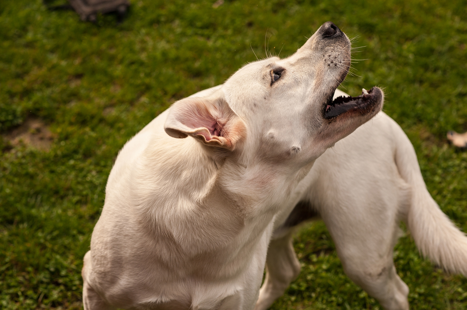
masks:
{"type": "Polygon", "coordinates": [[[177,101],[170,107],[164,129],[174,138],[191,136],[205,145],[231,151],[246,134],[245,124],[221,96],[177,101]]]}

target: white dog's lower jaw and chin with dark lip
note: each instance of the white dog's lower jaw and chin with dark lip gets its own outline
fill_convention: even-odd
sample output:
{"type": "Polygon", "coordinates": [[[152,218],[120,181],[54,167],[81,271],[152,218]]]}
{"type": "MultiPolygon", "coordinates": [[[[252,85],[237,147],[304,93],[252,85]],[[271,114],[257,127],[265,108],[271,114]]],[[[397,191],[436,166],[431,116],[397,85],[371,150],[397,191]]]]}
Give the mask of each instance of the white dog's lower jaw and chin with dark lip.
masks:
{"type": "Polygon", "coordinates": [[[382,108],[383,93],[379,87],[363,89],[360,96],[331,96],[324,104],[323,117],[329,121],[347,117],[372,117],[382,108]]]}

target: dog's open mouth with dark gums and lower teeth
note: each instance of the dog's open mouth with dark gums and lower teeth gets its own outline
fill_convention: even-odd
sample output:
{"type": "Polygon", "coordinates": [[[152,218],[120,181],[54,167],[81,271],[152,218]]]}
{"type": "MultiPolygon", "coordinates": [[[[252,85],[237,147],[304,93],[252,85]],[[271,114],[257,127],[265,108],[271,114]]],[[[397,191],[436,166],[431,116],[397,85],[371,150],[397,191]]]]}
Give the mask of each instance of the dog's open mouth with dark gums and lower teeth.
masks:
{"type": "Polygon", "coordinates": [[[382,91],[378,87],[373,87],[368,91],[362,89],[361,95],[356,97],[339,96],[333,100],[331,96],[328,102],[325,103],[323,114],[327,119],[338,117],[347,111],[366,114],[375,108],[375,104],[379,103],[381,98],[382,91]]]}

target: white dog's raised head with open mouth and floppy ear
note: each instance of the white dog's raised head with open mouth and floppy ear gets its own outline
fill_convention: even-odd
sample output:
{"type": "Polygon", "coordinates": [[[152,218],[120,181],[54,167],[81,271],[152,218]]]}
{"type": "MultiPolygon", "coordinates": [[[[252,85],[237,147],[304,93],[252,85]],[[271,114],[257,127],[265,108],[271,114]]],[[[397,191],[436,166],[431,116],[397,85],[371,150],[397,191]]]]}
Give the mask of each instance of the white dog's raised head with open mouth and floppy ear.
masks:
{"type": "Polygon", "coordinates": [[[333,100],[350,51],[347,36],[328,21],[290,57],[249,63],[210,96],[174,103],[165,131],[225,156],[306,165],[382,108],[377,87],[333,100]]]}

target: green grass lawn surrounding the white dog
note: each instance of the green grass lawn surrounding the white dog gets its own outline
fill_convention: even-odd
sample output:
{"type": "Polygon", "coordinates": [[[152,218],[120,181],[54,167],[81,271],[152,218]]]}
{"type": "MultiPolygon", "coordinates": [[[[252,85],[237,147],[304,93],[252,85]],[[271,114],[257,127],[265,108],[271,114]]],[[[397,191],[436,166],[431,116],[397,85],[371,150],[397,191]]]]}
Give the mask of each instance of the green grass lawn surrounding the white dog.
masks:
{"type": "MultiPolygon", "coordinates": [[[[264,57],[265,35],[287,56],[325,21],[364,46],[342,89],[385,89],[384,110],[414,144],[430,193],[467,231],[467,153],[445,138],[467,130],[465,1],[213,2],[135,0],[121,24],[83,23],[41,0],[0,2],[0,131],[35,117],[55,137],[47,152],[0,138],[1,309],[82,307],[82,257],[128,138],[264,57]]],[[[381,309],[345,276],[321,222],[295,245],[302,273],[272,309],[381,309]]],[[[411,309],[466,309],[464,277],[421,258],[409,235],[395,250],[411,309]]]]}

